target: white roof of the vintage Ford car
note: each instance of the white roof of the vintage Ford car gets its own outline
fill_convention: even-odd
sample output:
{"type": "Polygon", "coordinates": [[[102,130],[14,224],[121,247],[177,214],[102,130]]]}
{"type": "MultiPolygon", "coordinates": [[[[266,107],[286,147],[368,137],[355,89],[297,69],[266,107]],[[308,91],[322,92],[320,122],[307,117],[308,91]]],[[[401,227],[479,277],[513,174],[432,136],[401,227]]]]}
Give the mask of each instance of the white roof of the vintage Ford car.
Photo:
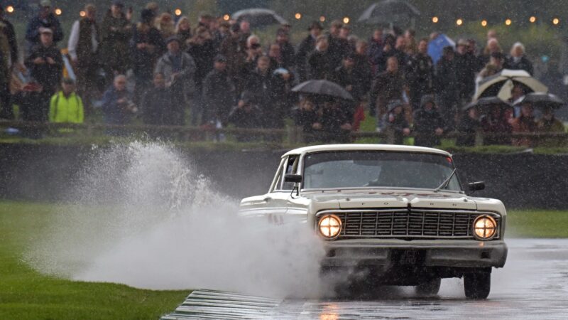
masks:
{"type": "Polygon", "coordinates": [[[425,146],[403,146],[398,144],[320,144],[317,146],[303,146],[286,152],[284,156],[290,154],[309,154],[321,151],[399,151],[399,152],[422,152],[426,154],[440,154],[452,156],[449,152],[426,148],[425,146]]]}

